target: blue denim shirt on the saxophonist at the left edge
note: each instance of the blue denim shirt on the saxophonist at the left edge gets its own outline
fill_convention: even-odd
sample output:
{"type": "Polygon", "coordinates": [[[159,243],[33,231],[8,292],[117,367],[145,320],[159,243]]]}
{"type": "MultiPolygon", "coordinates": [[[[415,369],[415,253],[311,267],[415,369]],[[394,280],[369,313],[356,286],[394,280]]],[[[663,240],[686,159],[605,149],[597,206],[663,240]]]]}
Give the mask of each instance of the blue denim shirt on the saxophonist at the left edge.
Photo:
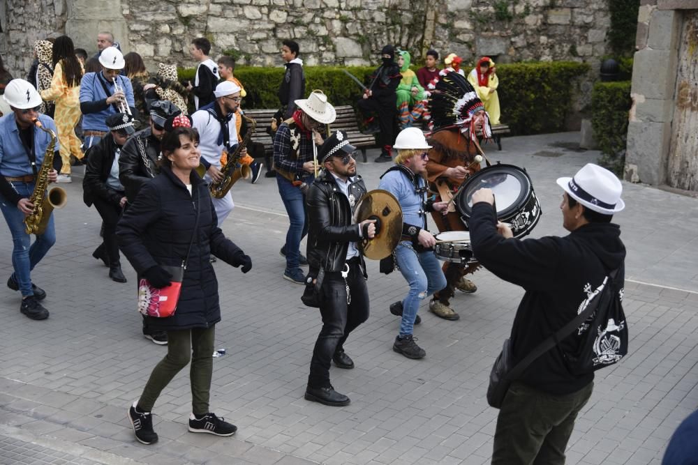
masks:
{"type": "MultiPolygon", "coordinates": [[[[57,133],[56,124],[50,116],[39,114],[38,119],[44,128],[57,133]]],[[[47,132],[34,128],[34,153],[36,154],[37,171],[43,162],[43,155],[50,141],[51,137],[47,132]]],[[[54,151],[58,151],[58,149],[59,144],[58,139],[56,139],[54,151]]],[[[29,156],[24,149],[22,139],[20,139],[20,130],[17,128],[14,113],[6,114],[0,118],[0,174],[13,178],[34,174],[29,163],[29,156]]]]}

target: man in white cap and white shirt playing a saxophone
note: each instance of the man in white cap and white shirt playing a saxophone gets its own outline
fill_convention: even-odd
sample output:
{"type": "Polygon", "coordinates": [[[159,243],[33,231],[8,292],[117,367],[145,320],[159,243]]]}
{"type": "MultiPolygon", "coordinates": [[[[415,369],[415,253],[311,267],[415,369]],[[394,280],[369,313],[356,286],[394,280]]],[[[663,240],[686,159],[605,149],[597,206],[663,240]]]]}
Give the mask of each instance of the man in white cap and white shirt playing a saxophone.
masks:
{"type": "MultiPolygon", "coordinates": [[[[235,130],[235,110],[240,105],[240,87],[234,82],[223,81],[216,86],[214,91],[216,100],[193,112],[192,127],[199,131],[199,150],[201,151],[201,164],[206,169],[204,176],[209,183],[218,183],[223,179],[221,172],[221,155],[223,151],[231,154],[239,142],[239,135],[235,130]]],[[[240,152],[241,158],[247,155],[247,149],[240,152]]],[[[235,160],[228,160],[235,162],[235,160]]],[[[228,191],[220,199],[214,197],[214,208],[218,217],[218,226],[223,224],[230,212],[235,207],[232,194],[228,191]]]]}

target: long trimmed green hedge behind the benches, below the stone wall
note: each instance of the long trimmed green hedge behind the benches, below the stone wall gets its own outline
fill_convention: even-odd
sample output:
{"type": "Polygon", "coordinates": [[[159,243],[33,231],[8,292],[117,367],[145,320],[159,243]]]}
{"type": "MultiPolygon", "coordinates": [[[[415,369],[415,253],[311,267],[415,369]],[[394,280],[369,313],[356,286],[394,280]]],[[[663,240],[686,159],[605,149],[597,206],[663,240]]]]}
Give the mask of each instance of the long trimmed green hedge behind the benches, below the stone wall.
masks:
{"type": "MultiPolygon", "coordinates": [[[[417,67],[415,67],[416,69],[417,67]]],[[[376,66],[307,66],[306,93],[322,89],[332,105],[355,106],[362,89],[352,82],[343,69],[355,75],[364,84],[370,84],[370,75],[376,66]]],[[[586,63],[557,61],[551,63],[513,63],[497,65],[499,101],[502,121],[513,134],[556,132],[564,129],[565,116],[570,112],[575,77],[586,73],[586,63]]],[[[179,79],[193,81],[194,68],[179,69],[179,79]]],[[[247,96],[244,108],[278,108],[279,83],[284,68],[239,66],[235,77],[245,86],[247,96]]]]}

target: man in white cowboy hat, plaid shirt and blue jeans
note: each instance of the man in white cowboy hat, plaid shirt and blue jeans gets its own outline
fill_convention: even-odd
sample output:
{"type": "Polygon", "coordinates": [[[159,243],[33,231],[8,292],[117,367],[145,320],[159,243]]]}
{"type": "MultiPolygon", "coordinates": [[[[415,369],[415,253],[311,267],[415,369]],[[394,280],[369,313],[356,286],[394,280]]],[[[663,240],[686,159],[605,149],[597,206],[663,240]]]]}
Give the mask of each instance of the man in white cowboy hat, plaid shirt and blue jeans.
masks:
{"type": "Polygon", "coordinates": [[[274,169],[279,195],[290,222],[281,255],[286,258],[283,278],[305,284],[300,268],[308,264],[300,252],[300,243],[308,234],[305,193],[315,179],[320,165],[315,165],[314,153],[323,139],[318,131],[322,125],[334,122],[336,112],[322,91],[312,91],[308,98],[295,100],[298,109],[283,121],[274,135],[274,169]]]}

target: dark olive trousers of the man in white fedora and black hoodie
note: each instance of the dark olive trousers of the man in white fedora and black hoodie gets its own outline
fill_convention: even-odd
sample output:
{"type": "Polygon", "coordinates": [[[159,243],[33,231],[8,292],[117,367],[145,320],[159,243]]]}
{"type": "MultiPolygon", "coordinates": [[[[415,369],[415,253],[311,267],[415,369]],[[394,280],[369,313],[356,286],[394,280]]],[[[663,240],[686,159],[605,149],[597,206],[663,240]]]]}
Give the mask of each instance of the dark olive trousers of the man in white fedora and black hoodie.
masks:
{"type": "Polygon", "coordinates": [[[552,395],[514,381],[497,417],[492,464],[565,464],[565,448],[577,413],[594,383],[577,392],[552,395]]]}

